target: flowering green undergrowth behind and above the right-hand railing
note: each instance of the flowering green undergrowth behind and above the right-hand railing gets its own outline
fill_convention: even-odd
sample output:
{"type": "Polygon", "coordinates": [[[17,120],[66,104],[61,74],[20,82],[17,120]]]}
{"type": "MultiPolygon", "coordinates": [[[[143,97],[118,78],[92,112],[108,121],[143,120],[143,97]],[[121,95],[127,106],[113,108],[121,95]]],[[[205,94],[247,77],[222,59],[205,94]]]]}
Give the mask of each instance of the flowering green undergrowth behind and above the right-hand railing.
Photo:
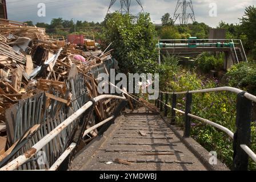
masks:
{"type": "MultiPolygon", "coordinates": [[[[183,92],[217,87],[215,80],[198,76],[194,71],[187,71],[178,65],[175,56],[164,57],[161,65],[160,89],[165,92],[183,92]]],[[[177,109],[185,110],[185,96],[177,98],[177,109]]],[[[230,92],[193,94],[191,113],[209,119],[235,132],[236,94],[230,92]]],[[[177,113],[177,125],[183,127],[184,116],[177,113]]],[[[208,151],[216,151],[218,158],[231,168],[233,162],[233,141],[222,131],[192,119],[192,137],[208,151]]],[[[256,151],[255,123],[252,124],[252,146],[256,151]]],[[[250,161],[251,170],[256,169],[250,161]]]]}

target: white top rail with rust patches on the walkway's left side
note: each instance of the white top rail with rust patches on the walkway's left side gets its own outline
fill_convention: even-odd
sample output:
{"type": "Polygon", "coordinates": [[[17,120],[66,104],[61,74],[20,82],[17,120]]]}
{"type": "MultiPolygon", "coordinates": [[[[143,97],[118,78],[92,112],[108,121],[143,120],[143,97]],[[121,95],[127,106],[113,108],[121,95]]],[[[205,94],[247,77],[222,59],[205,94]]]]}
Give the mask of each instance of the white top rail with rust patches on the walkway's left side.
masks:
{"type": "Polygon", "coordinates": [[[103,99],[109,99],[109,98],[126,100],[125,96],[120,97],[120,96],[114,96],[114,95],[102,95],[102,96],[95,97],[93,101],[87,102],[79,110],[77,110],[74,114],[72,114],[69,118],[63,121],[61,125],[57,126],[53,131],[51,131],[49,134],[47,134],[45,137],[39,140],[39,142],[37,142],[33,147],[31,147],[28,151],[26,151],[25,154],[18,156],[18,158],[6,164],[6,166],[3,166],[2,168],[0,168],[0,171],[13,171],[17,169],[19,166],[21,166],[22,164],[26,163],[27,160],[32,158],[35,154],[37,154],[38,151],[40,151],[43,147],[45,147],[47,143],[49,143],[51,140],[57,137],[57,135],[61,133],[63,129],[65,129],[67,126],[73,123],[75,119],[77,119],[79,116],[85,113],[87,109],[93,106],[94,102],[98,102],[103,99]]]}

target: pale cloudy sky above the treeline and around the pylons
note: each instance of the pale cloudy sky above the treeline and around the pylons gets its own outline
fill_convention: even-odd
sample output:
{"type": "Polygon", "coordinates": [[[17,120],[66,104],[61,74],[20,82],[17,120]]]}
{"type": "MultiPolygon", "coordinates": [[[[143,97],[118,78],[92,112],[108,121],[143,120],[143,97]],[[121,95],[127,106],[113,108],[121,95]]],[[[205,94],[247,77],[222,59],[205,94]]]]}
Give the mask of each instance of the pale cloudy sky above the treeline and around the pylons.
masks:
{"type": "MultiPolygon", "coordinates": [[[[131,13],[137,14],[140,9],[135,0],[131,0],[131,13]]],[[[102,22],[106,16],[110,0],[6,0],[8,19],[34,23],[50,23],[52,18],[86,20],[102,22]],[[38,16],[38,4],[45,3],[46,16],[38,16]]],[[[177,0],[141,0],[145,12],[150,13],[152,22],[161,23],[165,13],[173,16],[177,0]]],[[[221,20],[226,23],[239,23],[245,7],[256,6],[256,0],[192,0],[195,19],[211,27],[216,27],[221,20]]],[[[119,10],[117,0],[110,12],[119,10]]],[[[190,12],[189,10],[187,11],[190,12]]]]}

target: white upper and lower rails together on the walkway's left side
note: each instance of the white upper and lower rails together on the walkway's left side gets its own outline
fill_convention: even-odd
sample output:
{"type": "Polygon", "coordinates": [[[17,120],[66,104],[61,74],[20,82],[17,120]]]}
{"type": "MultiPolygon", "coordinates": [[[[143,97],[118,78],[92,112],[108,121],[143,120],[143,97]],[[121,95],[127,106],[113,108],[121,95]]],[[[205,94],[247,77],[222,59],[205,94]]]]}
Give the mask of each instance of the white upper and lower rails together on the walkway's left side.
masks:
{"type": "MultiPolygon", "coordinates": [[[[114,95],[102,95],[95,97],[93,100],[94,102],[98,102],[104,99],[118,99],[118,100],[126,100],[126,97],[120,97],[120,96],[114,96],[114,95]]],[[[53,140],[59,133],[61,133],[62,130],[64,130],[67,126],[69,126],[75,119],[80,117],[87,109],[89,109],[91,106],[93,106],[93,101],[87,102],[85,105],[83,105],[79,110],[77,110],[74,114],[72,114],[69,118],[67,118],[65,121],[63,121],[59,126],[57,126],[53,131],[51,131],[49,134],[47,134],[45,137],[43,137],[39,142],[37,142],[33,147],[30,148],[30,150],[26,151],[25,154],[18,156],[18,158],[14,159],[10,163],[6,164],[6,166],[3,166],[0,168],[0,171],[13,171],[17,169],[22,164],[26,163],[29,159],[31,159],[35,154],[37,154],[38,151],[40,151],[43,147],[46,146],[47,143],[49,143],[51,140],[53,140]]],[[[111,118],[111,117],[110,117],[111,118]]],[[[106,119],[107,121],[110,121],[106,119]]],[[[97,127],[102,126],[107,121],[103,121],[101,123],[98,123],[97,127]]],[[[95,126],[96,127],[96,126],[95,126]]],[[[93,127],[95,129],[95,127],[93,127]]],[[[85,131],[84,134],[88,134],[92,131],[91,129],[88,129],[85,131]]],[[[63,160],[66,158],[67,155],[70,154],[70,152],[74,149],[75,143],[72,143],[69,148],[61,155],[61,157],[55,162],[55,164],[50,168],[50,170],[57,169],[59,165],[63,162],[63,160]]]]}

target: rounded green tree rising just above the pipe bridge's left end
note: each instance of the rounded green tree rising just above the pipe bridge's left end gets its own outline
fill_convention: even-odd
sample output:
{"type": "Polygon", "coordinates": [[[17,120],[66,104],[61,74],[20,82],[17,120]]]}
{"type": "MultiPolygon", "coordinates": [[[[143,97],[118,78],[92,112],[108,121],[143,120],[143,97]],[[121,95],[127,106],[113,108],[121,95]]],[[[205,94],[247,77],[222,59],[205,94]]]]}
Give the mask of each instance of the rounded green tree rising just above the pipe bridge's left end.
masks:
{"type": "Polygon", "coordinates": [[[174,26],[162,27],[159,35],[161,39],[181,39],[181,34],[174,26]]]}

